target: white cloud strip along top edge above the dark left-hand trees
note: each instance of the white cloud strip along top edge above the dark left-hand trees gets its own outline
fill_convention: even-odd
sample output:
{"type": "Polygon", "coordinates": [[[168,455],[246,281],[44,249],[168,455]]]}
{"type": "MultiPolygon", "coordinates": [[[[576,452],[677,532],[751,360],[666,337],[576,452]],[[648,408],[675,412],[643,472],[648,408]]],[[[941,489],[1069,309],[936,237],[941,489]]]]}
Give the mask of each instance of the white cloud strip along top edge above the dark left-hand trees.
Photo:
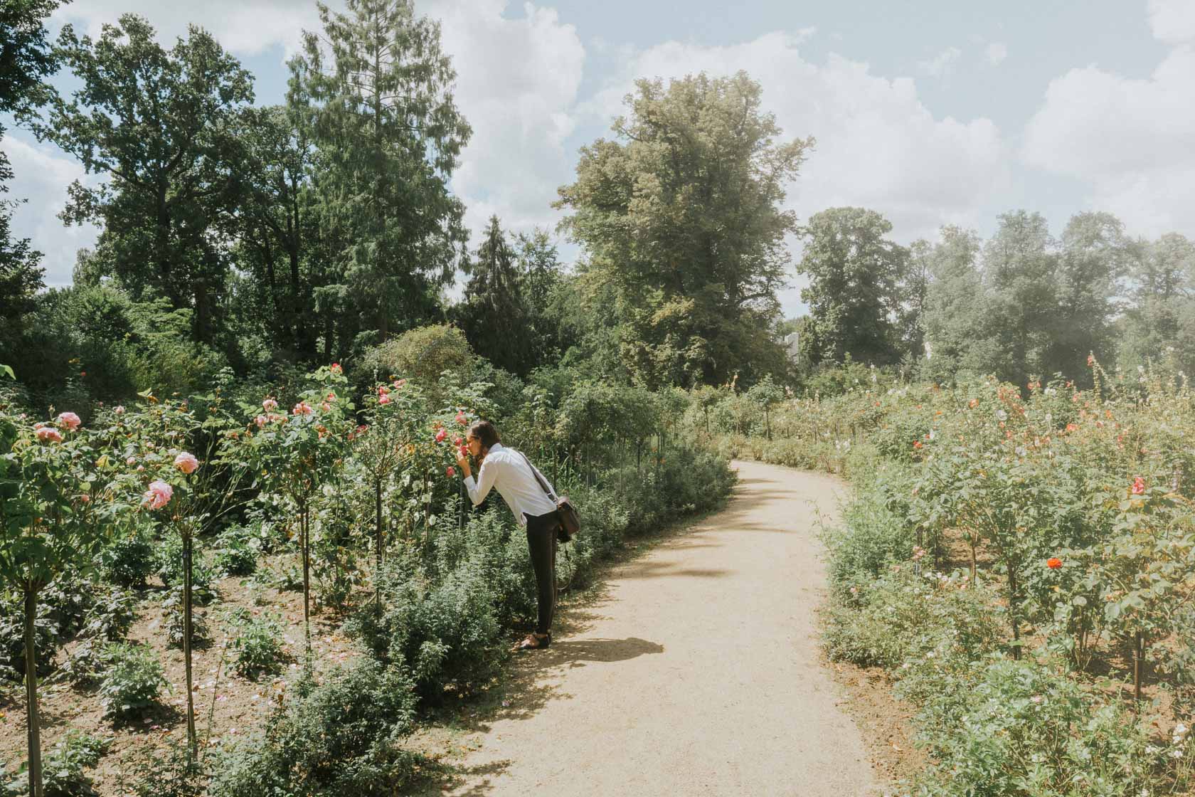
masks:
{"type": "Polygon", "coordinates": [[[289,55],[298,49],[302,30],[319,29],[315,4],[307,0],[86,0],[59,7],[53,19],[73,23],[80,33],[98,36],[104,23],[115,23],[124,13],[148,19],[166,45],[185,37],[188,24],[194,23],[210,31],[225,49],[243,56],[258,55],[278,44],[289,55]]]}

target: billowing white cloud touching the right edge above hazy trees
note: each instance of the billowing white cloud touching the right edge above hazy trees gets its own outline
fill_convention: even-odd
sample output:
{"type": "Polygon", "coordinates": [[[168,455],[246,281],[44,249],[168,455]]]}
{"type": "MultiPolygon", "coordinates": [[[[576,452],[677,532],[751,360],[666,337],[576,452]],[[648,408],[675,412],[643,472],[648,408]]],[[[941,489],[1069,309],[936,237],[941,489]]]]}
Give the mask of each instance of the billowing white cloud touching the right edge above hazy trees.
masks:
{"type": "MultiPolygon", "coordinates": [[[[1156,33],[1157,18],[1177,5],[1151,4],[1156,33]]],[[[1115,213],[1136,233],[1195,235],[1193,85],[1195,50],[1183,45],[1145,79],[1096,66],[1071,69],[1046,90],[1022,157],[1085,182],[1087,204],[1115,213]]]]}

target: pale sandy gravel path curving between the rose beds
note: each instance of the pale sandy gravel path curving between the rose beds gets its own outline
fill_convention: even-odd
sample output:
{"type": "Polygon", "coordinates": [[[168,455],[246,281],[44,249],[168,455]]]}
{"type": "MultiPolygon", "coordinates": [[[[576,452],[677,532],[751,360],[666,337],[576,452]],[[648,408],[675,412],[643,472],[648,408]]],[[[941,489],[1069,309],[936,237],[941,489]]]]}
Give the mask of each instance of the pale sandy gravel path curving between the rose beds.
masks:
{"type": "Polygon", "coordinates": [[[510,706],[468,740],[448,793],[883,793],[817,663],[814,520],[845,486],[735,467],[723,511],[611,570],[550,649],[520,656],[510,706]]]}

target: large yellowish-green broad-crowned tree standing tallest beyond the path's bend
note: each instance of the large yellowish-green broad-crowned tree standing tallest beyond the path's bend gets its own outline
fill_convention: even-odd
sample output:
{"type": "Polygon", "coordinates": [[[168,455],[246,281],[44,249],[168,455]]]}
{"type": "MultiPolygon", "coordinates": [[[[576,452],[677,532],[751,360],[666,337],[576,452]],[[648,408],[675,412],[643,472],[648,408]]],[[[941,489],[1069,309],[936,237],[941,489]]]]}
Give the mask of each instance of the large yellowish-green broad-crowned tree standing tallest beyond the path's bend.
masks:
{"type": "MultiPolygon", "coordinates": [[[[667,88],[638,80],[626,102],[619,141],[583,147],[557,202],[571,210],[563,229],[588,251],[587,280],[613,289],[626,368],[649,385],[692,385],[783,367],[759,331],[779,315],[784,237],[796,228],[780,202],[813,140],[778,142],[742,72],[667,88]]],[[[590,318],[609,318],[603,301],[590,318]]]]}

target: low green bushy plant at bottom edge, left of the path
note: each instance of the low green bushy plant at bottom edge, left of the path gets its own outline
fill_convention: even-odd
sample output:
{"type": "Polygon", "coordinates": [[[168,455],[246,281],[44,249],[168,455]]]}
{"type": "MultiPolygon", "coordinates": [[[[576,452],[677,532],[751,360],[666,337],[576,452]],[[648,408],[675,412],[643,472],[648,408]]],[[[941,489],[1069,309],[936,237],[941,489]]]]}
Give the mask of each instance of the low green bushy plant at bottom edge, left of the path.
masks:
{"type": "Polygon", "coordinates": [[[393,793],[412,774],[400,742],[413,730],[411,682],[363,658],[301,683],[264,730],[213,764],[210,797],[393,793]]]}

